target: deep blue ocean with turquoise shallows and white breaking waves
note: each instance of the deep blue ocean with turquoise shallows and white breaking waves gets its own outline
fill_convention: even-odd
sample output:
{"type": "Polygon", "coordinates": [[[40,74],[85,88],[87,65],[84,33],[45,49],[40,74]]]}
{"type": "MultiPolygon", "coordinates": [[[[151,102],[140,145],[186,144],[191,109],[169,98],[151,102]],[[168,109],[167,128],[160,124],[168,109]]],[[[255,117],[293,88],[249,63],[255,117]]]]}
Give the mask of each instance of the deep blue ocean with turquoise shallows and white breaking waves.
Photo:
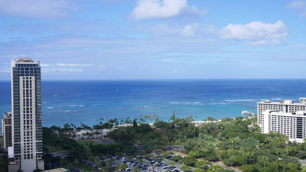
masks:
{"type": "MultiPolygon", "coordinates": [[[[10,81],[0,81],[0,112],[11,111],[10,81]]],[[[210,80],[78,80],[42,81],[43,126],[80,122],[97,124],[104,118],[139,118],[159,115],[214,118],[241,116],[264,99],[306,97],[303,79],[210,79],[210,80]],[[116,91],[118,88],[118,91],[116,91]],[[54,96],[57,95],[57,96],[54,96]]],[[[1,117],[2,118],[2,115],[1,117]]]]}

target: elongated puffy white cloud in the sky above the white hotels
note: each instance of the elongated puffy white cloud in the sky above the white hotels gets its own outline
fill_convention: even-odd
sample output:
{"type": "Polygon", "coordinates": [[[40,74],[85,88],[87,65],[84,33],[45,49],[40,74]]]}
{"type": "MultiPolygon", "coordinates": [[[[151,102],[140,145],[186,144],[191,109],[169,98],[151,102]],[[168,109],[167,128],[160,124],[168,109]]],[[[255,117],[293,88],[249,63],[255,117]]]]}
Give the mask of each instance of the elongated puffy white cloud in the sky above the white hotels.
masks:
{"type": "Polygon", "coordinates": [[[229,24],[220,30],[220,38],[252,41],[253,45],[279,45],[288,36],[288,31],[279,20],[274,24],[252,21],[248,24],[229,24]]]}

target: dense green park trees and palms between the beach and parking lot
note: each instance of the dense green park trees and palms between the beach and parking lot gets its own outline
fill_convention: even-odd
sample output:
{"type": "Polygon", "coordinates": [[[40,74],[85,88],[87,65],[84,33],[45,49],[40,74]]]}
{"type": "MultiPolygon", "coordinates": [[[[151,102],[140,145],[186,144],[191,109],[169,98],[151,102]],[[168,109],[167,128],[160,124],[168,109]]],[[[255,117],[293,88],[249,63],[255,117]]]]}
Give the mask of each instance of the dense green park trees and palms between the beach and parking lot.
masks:
{"type": "MultiPolygon", "coordinates": [[[[198,117],[195,117],[198,120],[198,117]]],[[[81,159],[91,159],[105,154],[119,155],[122,153],[135,154],[137,148],[134,143],[142,146],[137,154],[144,155],[154,150],[168,150],[180,155],[173,157],[175,162],[184,163],[186,169],[193,166],[196,172],[204,171],[230,171],[220,166],[211,165],[209,169],[203,168],[208,162],[216,162],[225,166],[239,168],[244,172],[298,172],[302,171],[298,159],[306,158],[306,144],[290,142],[288,137],[280,133],[260,134],[256,125],[257,118],[241,117],[218,119],[207,117],[205,123],[197,125],[194,118],[176,118],[173,114],[168,122],[159,121],[158,116],[146,115],[140,120],[109,119],[92,128],[81,123],[81,127],[66,124],[63,128],[52,126],[43,128],[43,143],[45,164],[58,162],[78,166],[81,159]],[[153,122],[153,126],[147,122],[153,122]],[[118,125],[126,126],[118,126],[118,125]],[[76,130],[87,129],[88,137],[93,137],[101,129],[115,129],[108,134],[114,139],[114,144],[83,145],[75,140],[76,130]],[[50,156],[49,151],[69,151],[65,160],[50,156]],[[200,160],[200,161],[199,161],[200,160]],[[66,162],[65,162],[66,161],[66,162]],[[207,162],[208,161],[208,162],[207,162]],[[188,168],[187,168],[188,167],[188,168]],[[214,170],[212,170],[214,168],[214,170]]],[[[98,120],[97,120],[98,121],[98,120]]],[[[80,137],[80,136],[79,136],[80,137]]],[[[151,155],[147,155],[151,157],[151,155]]],[[[97,162],[98,163],[98,162],[97,162]]],[[[106,162],[99,162],[106,172],[115,168],[107,166],[106,162]]],[[[46,166],[46,169],[50,168],[46,166]]],[[[304,170],[305,171],[305,170],[304,170]]]]}

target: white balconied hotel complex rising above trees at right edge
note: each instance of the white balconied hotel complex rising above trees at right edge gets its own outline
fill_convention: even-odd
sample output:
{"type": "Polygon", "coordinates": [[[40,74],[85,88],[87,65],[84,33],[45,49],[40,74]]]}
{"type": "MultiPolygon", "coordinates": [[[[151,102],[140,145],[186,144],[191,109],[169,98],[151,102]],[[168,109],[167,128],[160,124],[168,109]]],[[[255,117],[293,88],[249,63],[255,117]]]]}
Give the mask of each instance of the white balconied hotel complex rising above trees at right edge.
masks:
{"type": "Polygon", "coordinates": [[[300,98],[300,103],[293,100],[279,102],[257,102],[257,123],[261,133],[271,131],[286,134],[289,139],[305,138],[306,98],[300,98]]]}

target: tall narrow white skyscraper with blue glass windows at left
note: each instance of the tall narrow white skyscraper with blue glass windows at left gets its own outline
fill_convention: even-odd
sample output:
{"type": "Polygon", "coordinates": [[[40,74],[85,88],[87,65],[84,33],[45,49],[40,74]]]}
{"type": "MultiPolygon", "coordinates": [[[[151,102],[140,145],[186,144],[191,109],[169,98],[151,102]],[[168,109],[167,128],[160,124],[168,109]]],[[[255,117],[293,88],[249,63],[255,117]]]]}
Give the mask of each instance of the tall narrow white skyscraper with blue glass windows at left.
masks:
{"type": "Polygon", "coordinates": [[[9,172],[44,170],[39,61],[19,58],[11,62],[12,147],[9,172]]]}

